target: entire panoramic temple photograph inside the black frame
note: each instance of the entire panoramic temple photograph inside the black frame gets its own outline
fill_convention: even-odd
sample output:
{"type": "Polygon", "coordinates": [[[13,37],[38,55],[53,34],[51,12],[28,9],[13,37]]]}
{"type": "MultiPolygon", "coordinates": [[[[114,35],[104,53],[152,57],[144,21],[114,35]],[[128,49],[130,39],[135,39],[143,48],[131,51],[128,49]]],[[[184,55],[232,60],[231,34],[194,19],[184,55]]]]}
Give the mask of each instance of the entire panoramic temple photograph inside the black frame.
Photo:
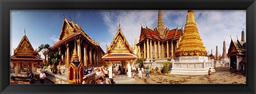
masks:
{"type": "Polygon", "coordinates": [[[246,84],[246,10],[10,10],[11,84],[246,84]]]}

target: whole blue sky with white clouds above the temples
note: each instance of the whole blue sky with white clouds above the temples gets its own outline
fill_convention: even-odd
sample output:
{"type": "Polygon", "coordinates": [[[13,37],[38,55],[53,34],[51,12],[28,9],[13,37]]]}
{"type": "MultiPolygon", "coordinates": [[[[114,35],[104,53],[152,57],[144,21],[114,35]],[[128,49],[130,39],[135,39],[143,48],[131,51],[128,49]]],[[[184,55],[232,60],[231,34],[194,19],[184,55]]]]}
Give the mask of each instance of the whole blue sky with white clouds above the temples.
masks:
{"type": "MultiPolygon", "coordinates": [[[[185,25],[187,10],[163,10],[164,25],[170,29],[181,28],[185,25]]],[[[121,29],[130,46],[134,45],[134,38],[139,41],[142,27],[153,29],[157,26],[158,10],[11,10],[11,48],[17,48],[21,38],[26,35],[36,49],[41,44],[53,46],[57,42],[63,24],[63,13],[66,18],[77,22],[87,35],[95,38],[106,52],[118,29],[119,20],[121,29]],[[70,16],[70,18],[69,18],[70,16]]],[[[194,10],[195,20],[201,39],[206,50],[215,54],[222,54],[223,40],[229,48],[230,35],[233,40],[241,40],[241,31],[246,32],[245,10],[194,10]]],[[[184,27],[183,27],[184,28],[184,27]]],[[[228,51],[228,50],[227,50],[228,51]]],[[[42,53],[41,53],[42,54],[42,53]]],[[[41,55],[43,58],[44,56],[41,55]]]]}

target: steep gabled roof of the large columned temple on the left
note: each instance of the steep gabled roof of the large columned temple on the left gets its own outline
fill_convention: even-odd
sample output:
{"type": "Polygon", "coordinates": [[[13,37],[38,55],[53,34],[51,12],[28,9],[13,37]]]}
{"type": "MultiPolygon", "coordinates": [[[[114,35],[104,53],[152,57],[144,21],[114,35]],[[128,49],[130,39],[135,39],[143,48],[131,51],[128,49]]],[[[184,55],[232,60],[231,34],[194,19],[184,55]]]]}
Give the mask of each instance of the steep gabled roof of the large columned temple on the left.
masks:
{"type": "Polygon", "coordinates": [[[90,42],[90,44],[93,47],[98,48],[103,52],[98,42],[95,42],[95,40],[86,35],[86,33],[81,29],[81,27],[78,27],[76,22],[74,23],[72,20],[68,21],[66,18],[64,18],[63,20],[59,41],[56,42],[51,47],[51,49],[56,49],[58,46],[65,44],[66,42],[69,42],[70,40],[73,40],[76,37],[83,37],[85,40],[90,42]]]}

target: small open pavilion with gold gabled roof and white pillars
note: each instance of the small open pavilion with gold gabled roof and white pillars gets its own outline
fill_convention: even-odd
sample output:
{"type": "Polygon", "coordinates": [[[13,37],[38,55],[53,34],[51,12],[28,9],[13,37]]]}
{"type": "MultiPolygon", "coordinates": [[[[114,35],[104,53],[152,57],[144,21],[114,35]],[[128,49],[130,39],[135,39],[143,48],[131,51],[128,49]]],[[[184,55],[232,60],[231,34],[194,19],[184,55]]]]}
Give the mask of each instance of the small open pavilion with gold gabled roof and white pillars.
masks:
{"type": "Polygon", "coordinates": [[[102,59],[106,61],[109,66],[109,78],[113,78],[113,63],[119,62],[122,63],[125,71],[128,68],[128,77],[132,77],[131,66],[134,59],[137,59],[137,56],[132,53],[132,48],[124,37],[124,34],[120,28],[120,23],[118,31],[116,32],[110,46],[107,46],[107,53],[102,56],[102,59]]]}

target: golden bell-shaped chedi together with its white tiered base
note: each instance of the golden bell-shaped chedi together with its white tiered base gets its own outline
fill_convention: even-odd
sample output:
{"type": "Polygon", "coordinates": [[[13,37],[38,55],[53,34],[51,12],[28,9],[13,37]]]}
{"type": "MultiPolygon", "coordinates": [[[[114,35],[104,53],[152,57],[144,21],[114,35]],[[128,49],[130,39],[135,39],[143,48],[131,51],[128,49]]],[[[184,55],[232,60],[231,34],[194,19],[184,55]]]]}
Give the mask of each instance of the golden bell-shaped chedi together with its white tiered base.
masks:
{"type": "Polygon", "coordinates": [[[177,57],[172,59],[171,74],[207,75],[209,68],[215,72],[213,61],[207,57],[192,10],[188,10],[185,29],[178,45],[175,50],[177,57]]]}

